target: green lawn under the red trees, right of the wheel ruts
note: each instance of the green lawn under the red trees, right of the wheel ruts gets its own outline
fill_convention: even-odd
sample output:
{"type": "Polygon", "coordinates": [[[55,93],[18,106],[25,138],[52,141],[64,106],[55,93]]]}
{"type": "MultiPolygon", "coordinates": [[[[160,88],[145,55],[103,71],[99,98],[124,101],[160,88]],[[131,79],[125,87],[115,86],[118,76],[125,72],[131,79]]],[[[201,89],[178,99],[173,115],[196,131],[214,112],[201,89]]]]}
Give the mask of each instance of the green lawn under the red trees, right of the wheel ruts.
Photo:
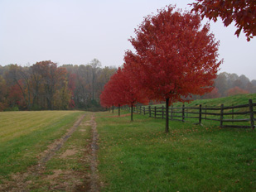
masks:
{"type": "Polygon", "coordinates": [[[103,191],[253,191],[256,137],[134,115],[97,113],[103,191]]]}

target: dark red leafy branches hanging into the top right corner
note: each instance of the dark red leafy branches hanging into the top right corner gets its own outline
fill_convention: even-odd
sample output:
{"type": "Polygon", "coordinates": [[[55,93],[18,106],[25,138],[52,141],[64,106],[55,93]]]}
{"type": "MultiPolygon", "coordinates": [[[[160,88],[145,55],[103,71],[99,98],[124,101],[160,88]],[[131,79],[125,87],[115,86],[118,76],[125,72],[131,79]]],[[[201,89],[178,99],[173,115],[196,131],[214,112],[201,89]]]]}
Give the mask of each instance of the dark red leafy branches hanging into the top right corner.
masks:
{"type": "Polygon", "coordinates": [[[239,36],[244,31],[247,41],[256,36],[256,1],[255,0],[197,0],[191,4],[192,11],[200,12],[201,17],[207,17],[214,22],[220,17],[225,26],[235,22],[239,36]]]}

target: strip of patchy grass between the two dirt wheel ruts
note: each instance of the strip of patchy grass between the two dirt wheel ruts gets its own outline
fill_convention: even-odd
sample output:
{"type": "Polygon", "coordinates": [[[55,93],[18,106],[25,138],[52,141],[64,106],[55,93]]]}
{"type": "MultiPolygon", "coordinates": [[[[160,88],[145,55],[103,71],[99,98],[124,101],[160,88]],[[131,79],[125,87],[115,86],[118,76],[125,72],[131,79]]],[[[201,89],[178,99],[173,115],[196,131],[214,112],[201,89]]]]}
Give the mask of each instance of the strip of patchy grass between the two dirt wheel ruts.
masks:
{"type": "Polygon", "coordinates": [[[76,191],[75,187],[80,186],[85,189],[85,178],[89,174],[89,154],[88,147],[91,137],[91,126],[88,121],[92,113],[87,113],[84,120],[77,127],[72,136],[65,144],[56,151],[56,155],[46,163],[44,175],[32,180],[29,185],[31,191],[76,191]],[[73,151],[69,155],[67,151],[73,151]],[[49,176],[60,171],[54,179],[49,176]],[[65,183],[65,185],[63,185],[65,183]]]}

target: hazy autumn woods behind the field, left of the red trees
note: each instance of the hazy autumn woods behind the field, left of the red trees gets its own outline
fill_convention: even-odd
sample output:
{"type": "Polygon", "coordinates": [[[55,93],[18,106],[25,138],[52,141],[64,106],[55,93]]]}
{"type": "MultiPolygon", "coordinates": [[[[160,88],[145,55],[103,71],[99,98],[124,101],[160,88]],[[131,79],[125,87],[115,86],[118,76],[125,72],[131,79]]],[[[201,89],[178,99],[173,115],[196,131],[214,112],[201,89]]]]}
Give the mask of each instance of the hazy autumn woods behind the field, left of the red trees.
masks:
{"type": "Polygon", "coordinates": [[[0,111],[99,110],[99,95],[116,70],[97,59],[88,65],[0,65],[0,111]]]}

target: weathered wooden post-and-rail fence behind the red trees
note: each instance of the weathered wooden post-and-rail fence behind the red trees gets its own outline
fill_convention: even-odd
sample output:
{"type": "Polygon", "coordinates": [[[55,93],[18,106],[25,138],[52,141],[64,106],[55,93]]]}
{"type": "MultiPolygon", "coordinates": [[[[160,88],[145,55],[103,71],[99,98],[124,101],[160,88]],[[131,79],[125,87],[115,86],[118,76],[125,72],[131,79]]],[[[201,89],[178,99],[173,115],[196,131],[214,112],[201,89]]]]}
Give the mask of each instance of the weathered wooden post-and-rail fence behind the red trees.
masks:
{"type": "MultiPolygon", "coordinates": [[[[256,110],[252,99],[249,103],[237,106],[210,107],[199,105],[198,107],[169,108],[168,117],[170,120],[186,121],[189,118],[198,119],[199,124],[202,120],[220,122],[220,127],[252,128],[254,129],[254,114],[256,110]],[[230,124],[231,123],[231,124],[230,124]]],[[[133,111],[152,118],[166,118],[166,109],[164,106],[136,106],[133,111]]]]}

